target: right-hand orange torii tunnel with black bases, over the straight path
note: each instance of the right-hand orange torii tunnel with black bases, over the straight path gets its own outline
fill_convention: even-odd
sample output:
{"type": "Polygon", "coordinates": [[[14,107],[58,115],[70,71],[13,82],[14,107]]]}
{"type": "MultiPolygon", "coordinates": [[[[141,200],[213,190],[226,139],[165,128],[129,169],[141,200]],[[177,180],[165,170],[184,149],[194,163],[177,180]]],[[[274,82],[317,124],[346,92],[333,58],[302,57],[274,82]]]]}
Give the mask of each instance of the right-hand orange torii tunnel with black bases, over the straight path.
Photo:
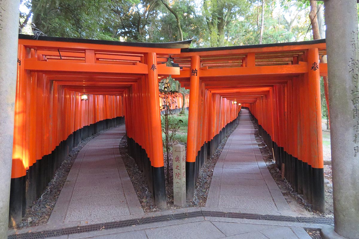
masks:
{"type": "Polygon", "coordinates": [[[319,63],[325,54],[325,41],[316,40],[182,49],[171,55],[182,67],[180,75],[172,77],[191,92],[187,199],[194,193],[202,158],[218,145],[223,125],[218,127],[213,119],[225,118],[216,109],[226,107],[226,99],[251,110],[294,190],[303,193],[314,210],[325,211],[320,76],[327,75],[327,66],[319,63]]]}

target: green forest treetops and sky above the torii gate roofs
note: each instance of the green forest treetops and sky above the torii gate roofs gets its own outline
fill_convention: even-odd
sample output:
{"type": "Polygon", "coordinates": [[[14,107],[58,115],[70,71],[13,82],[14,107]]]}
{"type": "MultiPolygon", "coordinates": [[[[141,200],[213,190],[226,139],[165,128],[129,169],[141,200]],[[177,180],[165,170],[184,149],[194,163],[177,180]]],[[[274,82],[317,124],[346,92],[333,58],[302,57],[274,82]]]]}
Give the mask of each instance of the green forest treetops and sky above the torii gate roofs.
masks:
{"type": "MultiPolygon", "coordinates": [[[[318,1],[317,14],[323,14],[318,1]]],[[[19,33],[218,47],[313,39],[306,0],[21,0],[19,33]]],[[[321,16],[322,18],[322,16],[321,16]]]]}

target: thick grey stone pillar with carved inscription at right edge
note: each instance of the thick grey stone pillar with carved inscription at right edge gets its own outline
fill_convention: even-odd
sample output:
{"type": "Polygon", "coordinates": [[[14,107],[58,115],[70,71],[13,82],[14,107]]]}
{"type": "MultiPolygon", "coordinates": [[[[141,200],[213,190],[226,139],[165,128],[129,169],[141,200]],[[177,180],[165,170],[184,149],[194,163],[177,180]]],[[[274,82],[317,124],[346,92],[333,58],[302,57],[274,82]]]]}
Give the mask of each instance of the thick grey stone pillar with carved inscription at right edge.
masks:
{"type": "Polygon", "coordinates": [[[359,238],[359,60],[356,0],[325,0],[334,230],[359,238]]]}

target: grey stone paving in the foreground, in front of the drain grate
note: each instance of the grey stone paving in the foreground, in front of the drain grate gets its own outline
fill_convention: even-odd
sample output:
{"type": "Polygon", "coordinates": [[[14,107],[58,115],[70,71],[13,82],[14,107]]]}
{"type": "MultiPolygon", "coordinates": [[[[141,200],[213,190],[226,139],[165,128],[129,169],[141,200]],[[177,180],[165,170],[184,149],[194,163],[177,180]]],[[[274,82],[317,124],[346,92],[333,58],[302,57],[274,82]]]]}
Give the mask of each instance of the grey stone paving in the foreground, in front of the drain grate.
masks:
{"type": "Polygon", "coordinates": [[[303,229],[306,225],[251,221],[201,217],[72,234],[53,239],[311,239],[303,229]]]}

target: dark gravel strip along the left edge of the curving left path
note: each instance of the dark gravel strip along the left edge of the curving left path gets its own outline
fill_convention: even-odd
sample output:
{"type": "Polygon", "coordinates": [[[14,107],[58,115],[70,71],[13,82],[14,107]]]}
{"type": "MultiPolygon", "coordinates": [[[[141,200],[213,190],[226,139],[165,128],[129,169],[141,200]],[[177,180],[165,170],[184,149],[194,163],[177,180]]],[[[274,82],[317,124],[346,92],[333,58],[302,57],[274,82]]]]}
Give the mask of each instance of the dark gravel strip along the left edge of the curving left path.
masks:
{"type": "MultiPolygon", "coordinates": [[[[69,156],[67,156],[64,162],[61,163],[59,169],[56,170],[55,177],[48,183],[43,195],[34,201],[34,204],[26,210],[24,218],[16,225],[15,229],[45,225],[47,223],[51,212],[55,207],[57,198],[60,195],[61,189],[66,182],[67,175],[75,162],[77,154],[91,139],[113,128],[115,127],[102,130],[99,133],[82,140],[71,150],[69,156]]],[[[9,229],[13,229],[13,227],[9,227],[9,229]]]]}

